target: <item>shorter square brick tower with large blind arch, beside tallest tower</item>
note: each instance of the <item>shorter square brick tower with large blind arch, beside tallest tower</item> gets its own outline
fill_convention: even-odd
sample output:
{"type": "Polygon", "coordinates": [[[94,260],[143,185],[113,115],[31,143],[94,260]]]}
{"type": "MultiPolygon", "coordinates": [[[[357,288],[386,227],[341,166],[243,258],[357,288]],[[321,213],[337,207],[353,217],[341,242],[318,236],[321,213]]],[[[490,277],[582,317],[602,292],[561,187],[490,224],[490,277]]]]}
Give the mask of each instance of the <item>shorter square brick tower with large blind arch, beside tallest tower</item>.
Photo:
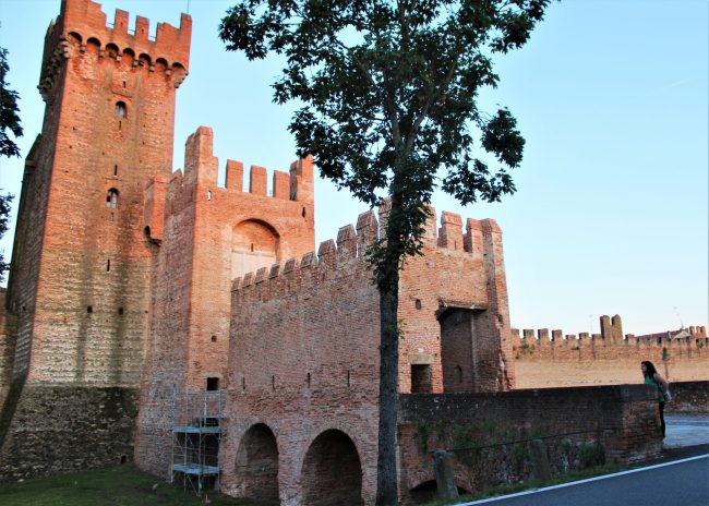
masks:
{"type": "Polygon", "coordinates": [[[227,386],[232,275],[243,263],[275,262],[314,246],[312,160],[275,171],[227,161],[217,186],[213,133],[201,126],[185,146],[184,176],[156,178],[146,191],[146,234],[158,251],[152,301],[149,354],[137,420],[136,460],[158,475],[169,470],[172,426],[184,424],[187,391],[207,378],[227,386]]]}

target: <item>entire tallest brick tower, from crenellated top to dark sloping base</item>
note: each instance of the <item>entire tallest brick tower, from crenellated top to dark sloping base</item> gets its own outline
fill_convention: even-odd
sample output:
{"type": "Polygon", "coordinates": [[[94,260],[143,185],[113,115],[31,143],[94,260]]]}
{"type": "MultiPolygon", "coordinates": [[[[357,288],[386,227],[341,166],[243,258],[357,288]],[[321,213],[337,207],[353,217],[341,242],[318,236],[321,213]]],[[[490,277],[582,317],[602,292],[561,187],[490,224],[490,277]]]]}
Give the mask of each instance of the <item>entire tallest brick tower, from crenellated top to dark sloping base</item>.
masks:
{"type": "Polygon", "coordinates": [[[144,193],[172,171],[192,22],[153,39],[148,20],[128,20],[117,10],[107,26],[100,4],[62,0],[45,38],[0,364],[4,477],[130,458],[156,254],[144,193]]]}

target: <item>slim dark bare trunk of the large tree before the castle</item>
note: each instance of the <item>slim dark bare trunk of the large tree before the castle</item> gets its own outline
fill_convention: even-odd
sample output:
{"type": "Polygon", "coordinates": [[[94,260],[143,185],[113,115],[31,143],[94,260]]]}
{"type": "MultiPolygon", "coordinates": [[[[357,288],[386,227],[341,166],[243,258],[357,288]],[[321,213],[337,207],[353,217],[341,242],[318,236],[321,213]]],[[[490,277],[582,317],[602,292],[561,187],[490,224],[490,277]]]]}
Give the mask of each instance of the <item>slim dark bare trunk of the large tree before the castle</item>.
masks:
{"type": "MultiPolygon", "coordinates": [[[[388,245],[387,245],[388,248],[388,245]]],[[[378,279],[380,289],[380,437],[377,455],[376,505],[398,504],[397,405],[399,364],[399,261],[387,257],[378,279]]]]}

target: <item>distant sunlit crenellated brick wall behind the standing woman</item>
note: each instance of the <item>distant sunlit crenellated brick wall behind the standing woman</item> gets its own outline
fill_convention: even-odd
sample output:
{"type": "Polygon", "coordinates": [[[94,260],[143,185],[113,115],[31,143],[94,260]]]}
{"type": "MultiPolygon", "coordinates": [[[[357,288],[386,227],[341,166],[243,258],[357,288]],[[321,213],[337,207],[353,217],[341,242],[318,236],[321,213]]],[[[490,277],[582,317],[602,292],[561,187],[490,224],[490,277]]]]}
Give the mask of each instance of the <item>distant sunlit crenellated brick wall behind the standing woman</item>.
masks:
{"type": "Polygon", "coordinates": [[[709,339],[705,327],[675,333],[623,335],[621,317],[601,317],[601,334],[513,329],[518,388],[642,383],[640,362],[651,361],[672,382],[709,380],[709,339]]]}

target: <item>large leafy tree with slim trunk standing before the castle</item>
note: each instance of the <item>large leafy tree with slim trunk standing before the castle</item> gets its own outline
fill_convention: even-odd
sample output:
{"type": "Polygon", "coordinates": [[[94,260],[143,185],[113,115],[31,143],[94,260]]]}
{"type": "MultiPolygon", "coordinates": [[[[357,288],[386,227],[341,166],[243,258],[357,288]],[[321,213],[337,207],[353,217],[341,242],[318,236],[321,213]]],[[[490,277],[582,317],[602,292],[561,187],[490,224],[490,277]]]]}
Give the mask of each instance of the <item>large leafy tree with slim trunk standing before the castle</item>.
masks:
{"type": "Polygon", "coordinates": [[[399,269],[421,251],[436,188],[462,204],[513,193],[525,141],[495,86],[492,56],[519,48],[549,0],[242,0],[220,37],[253,59],[284,55],[275,101],[296,100],[290,131],[321,174],[371,206],[390,197],[369,251],[381,309],[377,504],[397,503],[399,269]],[[486,154],[486,155],[485,155],[486,154]]]}

